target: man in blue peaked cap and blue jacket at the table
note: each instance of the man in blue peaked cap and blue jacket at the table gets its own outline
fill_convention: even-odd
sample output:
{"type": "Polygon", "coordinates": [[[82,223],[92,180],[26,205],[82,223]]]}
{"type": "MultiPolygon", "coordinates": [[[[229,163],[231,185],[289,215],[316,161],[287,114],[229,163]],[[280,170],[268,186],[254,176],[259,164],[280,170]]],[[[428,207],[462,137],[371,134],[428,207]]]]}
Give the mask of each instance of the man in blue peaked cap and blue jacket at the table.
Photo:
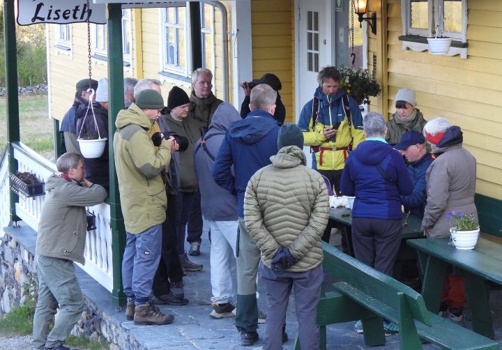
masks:
{"type": "Polygon", "coordinates": [[[408,174],[413,183],[411,195],[401,196],[404,212],[423,218],[427,189],[425,188],[425,172],[432,163],[432,158],[425,145],[425,137],[416,130],[404,132],[399,144],[394,146],[408,160],[408,174]]]}

